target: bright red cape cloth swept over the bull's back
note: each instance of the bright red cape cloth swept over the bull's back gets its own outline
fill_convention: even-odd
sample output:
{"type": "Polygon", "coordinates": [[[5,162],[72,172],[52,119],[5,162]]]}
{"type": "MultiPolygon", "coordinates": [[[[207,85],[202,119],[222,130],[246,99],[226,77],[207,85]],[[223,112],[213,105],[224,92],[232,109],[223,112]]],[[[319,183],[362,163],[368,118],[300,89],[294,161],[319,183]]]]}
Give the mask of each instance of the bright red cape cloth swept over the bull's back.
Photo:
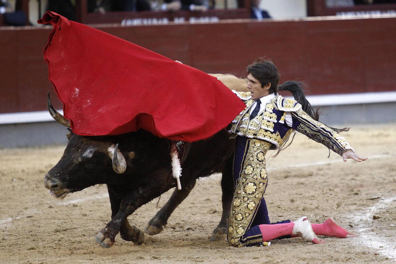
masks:
{"type": "Polygon", "coordinates": [[[158,137],[198,141],[246,105],[213,76],[48,11],[44,59],[49,80],[78,135],[142,128],[158,137]]]}

